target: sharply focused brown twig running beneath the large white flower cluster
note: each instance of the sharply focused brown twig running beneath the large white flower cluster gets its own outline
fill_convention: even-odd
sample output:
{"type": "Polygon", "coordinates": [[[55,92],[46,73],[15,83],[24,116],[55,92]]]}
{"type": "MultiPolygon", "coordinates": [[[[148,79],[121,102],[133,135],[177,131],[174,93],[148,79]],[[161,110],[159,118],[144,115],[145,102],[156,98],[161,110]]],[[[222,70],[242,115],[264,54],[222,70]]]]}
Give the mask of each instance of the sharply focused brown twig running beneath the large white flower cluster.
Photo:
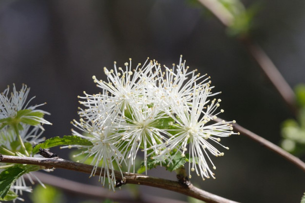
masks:
{"type": "MultiPolygon", "coordinates": [[[[63,168],[68,170],[75,170],[83,173],[91,174],[93,166],[81,164],[73,161],[68,161],[64,159],[49,159],[49,158],[36,158],[36,157],[18,157],[18,156],[8,156],[0,154],[0,162],[3,163],[15,163],[15,164],[30,164],[30,165],[38,165],[45,167],[55,167],[55,168],[63,168]]],[[[104,168],[97,168],[97,174],[104,175],[104,168]]],[[[119,180],[121,174],[119,171],[114,171],[115,177],[119,180]]],[[[181,194],[185,194],[187,196],[196,198],[198,200],[205,201],[207,203],[237,203],[223,197],[211,194],[204,190],[201,190],[192,184],[182,185],[177,181],[171,181],[161,178],[154,178],[150,176],[145,176],[136,173],[123,173],[124,181],[126,184],[137,184],[137,185],[148,185],[152,187],[158,187],[162,189],[171,190],[174,192],[178,192],[181,194]]]]}

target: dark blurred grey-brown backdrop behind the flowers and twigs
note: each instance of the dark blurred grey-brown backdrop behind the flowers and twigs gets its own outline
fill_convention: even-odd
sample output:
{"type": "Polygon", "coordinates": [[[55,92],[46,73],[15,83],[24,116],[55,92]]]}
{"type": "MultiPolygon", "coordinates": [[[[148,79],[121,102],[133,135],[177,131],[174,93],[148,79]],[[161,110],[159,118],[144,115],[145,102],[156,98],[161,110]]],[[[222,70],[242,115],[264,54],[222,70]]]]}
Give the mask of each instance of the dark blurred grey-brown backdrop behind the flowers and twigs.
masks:
{"type": "MultiPolygon", "coordinates": [[[[255,0],[243,1],[250,5],[255,0]]],[[[291,87],[305,82],[305,1],[260,1],[252,38],[273,60],[291,87]]],[[[161,64],[178,63],[209,74],[214,92],[221,91],[221,116],[235,119],[279,144],[280,125],[293,114],[264,77],[245,47],[202,6],[187,0],[1,0],[0,92],[22,83],[36,95],[32,104],[51,113],[44,136],[70,134],[77,119],[77,95],[95,93],[92,75],[128,58],[147,56],[161,64]]],[[[244,136],[222,139],[230,148],[213,158],[216,179],[192,183],[211,193],[243,203],[299,203],[305,192],[301,169],[244,136]]],[[[69,150],[55,148],[68,158],[69,150]]],[[[302,157],[301,157],[302,158],[302,157]]],[[[303,160],[304,157],[303,157],[303,160]]],[[[99,185],[87,174],[56,169],[54,175],[99,185]]],[[[149,175],[175,179],[162,168],[149,175]]],[[[187,200],[186,196],[140,186],[143,193],[187,200]]],[[[110,191],[112,192],[112,191],[110,191]]],[[[119,193],[120,191],[116,191],[119,193]]],[[[66,194],[68,203],[86,200],[66,194]]],[[[30,202],[30,200],[27,200],[30,202]]],[[[101,201],[99,201],[101,202],[101,201]]]]}

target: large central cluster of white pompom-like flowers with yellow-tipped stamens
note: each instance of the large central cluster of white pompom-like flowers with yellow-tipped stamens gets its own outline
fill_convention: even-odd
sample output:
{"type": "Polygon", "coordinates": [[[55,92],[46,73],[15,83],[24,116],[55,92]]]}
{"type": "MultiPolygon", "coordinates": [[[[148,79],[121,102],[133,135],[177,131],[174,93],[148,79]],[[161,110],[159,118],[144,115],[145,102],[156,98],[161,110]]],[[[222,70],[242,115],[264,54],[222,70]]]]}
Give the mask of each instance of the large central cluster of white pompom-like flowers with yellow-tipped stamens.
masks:
{"type": "Polygon", "coordinates": [[[210,122],[223,112],[217,111],[221,100],[211,98],[219,92],[211,92],[210,77],[189,71],[182,56],[172,68],[161,67],[149,58],[134,69],[131,59],[124,65],[117,68],[114,62],[114,69],[105,67],[106,81],[93,76],[100,93],[79,96],[85,108],[79,108],[80,119],[73,124],[85,133],[73,133],[94,144],[83,151],[94,157],[92,175],[102,163],[106,173],[100,180],[104,185],[108,178],[109,187],[114,189],[114,165],[126,165],[128,172],[134,172],[135,157],[141,150],[145,167],[148,157],[171,164],[180,153],[187,155],[189,173],[214,178],[208,163],[213,169],[215,166],[209,155],[224,153],[213,144],[222,146],[221,137],[236,133],[232,122],[210,122]]]}

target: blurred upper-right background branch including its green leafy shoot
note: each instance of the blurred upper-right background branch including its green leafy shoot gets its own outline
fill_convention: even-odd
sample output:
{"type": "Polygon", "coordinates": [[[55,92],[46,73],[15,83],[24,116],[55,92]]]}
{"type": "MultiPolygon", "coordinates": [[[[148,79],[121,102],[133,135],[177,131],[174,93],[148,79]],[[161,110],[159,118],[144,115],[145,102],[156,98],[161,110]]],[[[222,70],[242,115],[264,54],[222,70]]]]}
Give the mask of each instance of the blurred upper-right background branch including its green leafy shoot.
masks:
{"type": "Polygon", "coordinates": [[[198,0],[212,12],[227,28],[230,35],[237,38],[245,45],[248,53],[255,59],[259,67],[275,87],[277,92],[286,102],[289,109],[297,115],[295,94],[284,77],[278,71],[272,60],[265,51],[255,44],[249,37],[251,19],[257,12],[253,6],[246,10],[239,0],[198,0]]]}

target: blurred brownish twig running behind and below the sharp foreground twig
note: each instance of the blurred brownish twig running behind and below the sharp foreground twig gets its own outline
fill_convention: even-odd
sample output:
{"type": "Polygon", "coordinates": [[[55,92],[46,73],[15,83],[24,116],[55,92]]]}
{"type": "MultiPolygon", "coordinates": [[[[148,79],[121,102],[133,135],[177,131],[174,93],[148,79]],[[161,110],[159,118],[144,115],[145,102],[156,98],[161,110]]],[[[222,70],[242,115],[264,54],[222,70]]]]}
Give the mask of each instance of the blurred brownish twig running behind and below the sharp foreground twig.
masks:
{"type": "MultiPolygon", "coordinates": [[[[74,195],[86,196],[96,199],[111,199],[118,202],[124,203],[186,203],[179,200],[173,200],[164,197],[156,197],[152,195],[140,195],[133,197],[127,191],[120,192],[109,192],[109,189],[102,188],[102,186],[95,186],[89,184],[78,183],[76,181],[71,181],[64,178],[59,178],[57,176],[42,173],[42,172],[33,172],[35,176],[44,184],[55,186],[63,191],[72,193],[74,195]]],[[[24,178],[26,178],[25,176],[24,178]]],[[[33,179],[35,181],[35,179],[33,179]]]]}

